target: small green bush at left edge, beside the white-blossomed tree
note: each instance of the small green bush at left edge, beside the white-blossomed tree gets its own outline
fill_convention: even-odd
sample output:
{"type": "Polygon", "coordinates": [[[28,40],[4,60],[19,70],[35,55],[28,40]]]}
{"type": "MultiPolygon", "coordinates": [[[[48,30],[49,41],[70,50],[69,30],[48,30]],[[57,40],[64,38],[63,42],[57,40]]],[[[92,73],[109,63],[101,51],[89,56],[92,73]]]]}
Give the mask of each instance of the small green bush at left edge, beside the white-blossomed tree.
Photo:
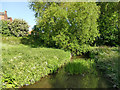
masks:
{"type": "Polygon", "coordinates": [[[10,36],[11,32],[9,29],[9,21],[5,21],[5,20],[1,20],[0,21],[0,34],[4,35],[4,36],[10,36]]]}

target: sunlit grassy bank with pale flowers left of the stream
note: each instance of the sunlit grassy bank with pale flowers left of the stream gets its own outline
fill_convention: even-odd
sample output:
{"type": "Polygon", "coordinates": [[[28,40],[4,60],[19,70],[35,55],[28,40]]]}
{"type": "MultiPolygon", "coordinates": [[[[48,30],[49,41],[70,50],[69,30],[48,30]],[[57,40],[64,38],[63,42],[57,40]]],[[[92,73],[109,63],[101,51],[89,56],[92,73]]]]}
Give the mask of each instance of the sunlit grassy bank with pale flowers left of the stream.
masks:
{"type": "Polygon", "coordinates": [[[2,88],[32,84],[70,60],[69,52],[31,48],[18,44],[17,39],[11,42],[6,38],[2,43],[2,88]]]}

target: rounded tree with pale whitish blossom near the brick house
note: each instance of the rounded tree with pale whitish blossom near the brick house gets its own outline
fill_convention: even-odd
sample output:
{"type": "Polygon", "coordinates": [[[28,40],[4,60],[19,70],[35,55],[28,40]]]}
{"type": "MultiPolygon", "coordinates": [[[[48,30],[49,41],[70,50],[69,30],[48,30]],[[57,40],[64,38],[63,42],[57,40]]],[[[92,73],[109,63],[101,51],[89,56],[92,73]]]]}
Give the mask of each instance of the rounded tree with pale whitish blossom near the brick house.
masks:
{"type": "Polygon", "coordinates": [[[28,34],[28,24],[26,21],[22,19],[14,19],[10,24],[9,24],[10,31],[13,36],[16,37],[21,37],[25,36],[28,34]]]}

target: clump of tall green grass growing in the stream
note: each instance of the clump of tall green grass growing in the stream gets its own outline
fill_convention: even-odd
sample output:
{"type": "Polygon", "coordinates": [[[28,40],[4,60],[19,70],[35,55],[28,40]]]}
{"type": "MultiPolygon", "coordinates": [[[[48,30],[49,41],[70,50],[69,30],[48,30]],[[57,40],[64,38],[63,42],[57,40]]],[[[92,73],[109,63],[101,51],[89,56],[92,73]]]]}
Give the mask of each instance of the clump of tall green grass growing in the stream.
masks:
{"type": "Polygon", "coordinates": [[[70,74],[95,73],[95,63],[90,59],[75,59],[65,66],[65,70],[70,74]]]}

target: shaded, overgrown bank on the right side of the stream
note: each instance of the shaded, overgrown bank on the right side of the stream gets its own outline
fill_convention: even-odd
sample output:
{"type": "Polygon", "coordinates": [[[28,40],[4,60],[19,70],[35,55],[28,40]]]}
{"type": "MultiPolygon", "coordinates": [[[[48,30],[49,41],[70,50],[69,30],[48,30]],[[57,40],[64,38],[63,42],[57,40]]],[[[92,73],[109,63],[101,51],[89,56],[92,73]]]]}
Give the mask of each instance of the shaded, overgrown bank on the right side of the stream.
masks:
{"type": "Polygon", "coordinates": [[[90,52],[90,57],[95,59],[96,66],[103,75],[113,83],[113,87],[120,88],[120,50],[118,47],[96,47],[90,52]]]}

